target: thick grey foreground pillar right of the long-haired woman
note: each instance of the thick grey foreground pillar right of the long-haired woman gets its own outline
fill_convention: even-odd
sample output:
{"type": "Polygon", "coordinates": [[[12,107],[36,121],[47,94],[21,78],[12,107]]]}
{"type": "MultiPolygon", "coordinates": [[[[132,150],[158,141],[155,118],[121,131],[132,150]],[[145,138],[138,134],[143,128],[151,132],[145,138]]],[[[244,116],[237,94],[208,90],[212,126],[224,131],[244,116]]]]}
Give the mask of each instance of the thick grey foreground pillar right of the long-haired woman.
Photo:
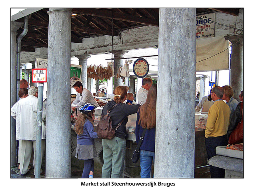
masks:
{"type": "Polygon", "coordinates": [[[159,11],[155,178],[193,178],[196,9],[159,11]]]}

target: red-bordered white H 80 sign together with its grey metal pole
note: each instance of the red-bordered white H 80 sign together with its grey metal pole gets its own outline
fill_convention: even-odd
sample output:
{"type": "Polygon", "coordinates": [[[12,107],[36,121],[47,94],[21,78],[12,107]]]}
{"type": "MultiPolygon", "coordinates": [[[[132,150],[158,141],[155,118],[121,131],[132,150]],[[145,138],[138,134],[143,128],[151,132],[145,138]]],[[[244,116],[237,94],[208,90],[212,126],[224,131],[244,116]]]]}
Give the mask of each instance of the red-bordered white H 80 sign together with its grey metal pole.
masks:
{"type": "Polygon", "coordinates": [[[40,178],[41,148],[42,148],[41,146],[42,146],[43,92],[44,92],[44,82],[47,82],[47,69],[32,69],[32,82],[38,83],[35,178],[40,178]]]}

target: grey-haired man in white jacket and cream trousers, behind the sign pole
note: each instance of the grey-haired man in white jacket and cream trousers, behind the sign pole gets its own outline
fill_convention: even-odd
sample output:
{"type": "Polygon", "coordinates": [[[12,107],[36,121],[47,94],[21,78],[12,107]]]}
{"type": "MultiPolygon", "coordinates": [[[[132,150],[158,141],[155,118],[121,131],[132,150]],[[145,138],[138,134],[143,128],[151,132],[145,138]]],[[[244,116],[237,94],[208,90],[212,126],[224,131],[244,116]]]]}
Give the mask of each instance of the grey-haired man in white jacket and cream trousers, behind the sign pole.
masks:
{"type": "MultiPolygon", "coordinates": [[[[38,88],[32,86],[28,90],[28,96],[16,102],[12,106],[12,117],[16,119],[16,140],[19,140],[20,174],[28,172],[28,165],[32,150],[34,151],[33,165],[36,163],[36,128],[37,128],[37,103],[38,88]]],[[[45,108],[44,108],[45,110],[45,108]]],[[[43,120],[45,120],[43,112],[43,120]]],[[[45,126],[42,126],[41,164],[45,150],[45,126]]],[[[42,170],[41,170],[42,171],[42,170]]],[[[35,171],[34,171],[35,174],[35,171]]]]}

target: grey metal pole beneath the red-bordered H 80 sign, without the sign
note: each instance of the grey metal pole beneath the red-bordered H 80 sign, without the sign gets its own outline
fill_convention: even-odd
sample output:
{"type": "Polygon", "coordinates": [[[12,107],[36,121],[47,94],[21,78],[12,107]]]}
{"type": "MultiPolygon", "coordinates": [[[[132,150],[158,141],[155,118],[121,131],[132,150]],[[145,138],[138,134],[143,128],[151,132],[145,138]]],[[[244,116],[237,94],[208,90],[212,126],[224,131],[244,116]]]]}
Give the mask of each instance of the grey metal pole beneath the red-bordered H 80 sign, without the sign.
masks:
{"type": "Polygon", "coordinates": [[[43,92],[44,92],[44,83],[38,83],[35,178],[40,178],[40,170],[41,170],[43,92]]]}

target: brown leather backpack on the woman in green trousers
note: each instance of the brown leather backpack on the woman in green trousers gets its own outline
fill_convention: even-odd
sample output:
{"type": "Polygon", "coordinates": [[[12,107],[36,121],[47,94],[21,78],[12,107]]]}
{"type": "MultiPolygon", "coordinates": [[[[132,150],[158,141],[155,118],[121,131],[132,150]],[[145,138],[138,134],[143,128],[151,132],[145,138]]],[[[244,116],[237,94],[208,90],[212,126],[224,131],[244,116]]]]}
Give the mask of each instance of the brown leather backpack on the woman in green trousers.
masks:
{"type": "Polygon", "coordinates": [[[116,128],[112,128],[112,119],[111,119],[111,116],[109,116],[108,114],[118,104],[119,103],[115,104],[110,109],[110,111],[107,112],[106,115],[100,116],[100,122],[95,127],[95,131],[97,132],[97,135],[98,135],[99,138],[102,138],[102,139],[112,139],[115,136],[117,128],[120,127],[122,122],[124,121],[124,120],[122,120],[122,122],[120,122],[118,124],[118,126],[116,126],[116,128]]]}

